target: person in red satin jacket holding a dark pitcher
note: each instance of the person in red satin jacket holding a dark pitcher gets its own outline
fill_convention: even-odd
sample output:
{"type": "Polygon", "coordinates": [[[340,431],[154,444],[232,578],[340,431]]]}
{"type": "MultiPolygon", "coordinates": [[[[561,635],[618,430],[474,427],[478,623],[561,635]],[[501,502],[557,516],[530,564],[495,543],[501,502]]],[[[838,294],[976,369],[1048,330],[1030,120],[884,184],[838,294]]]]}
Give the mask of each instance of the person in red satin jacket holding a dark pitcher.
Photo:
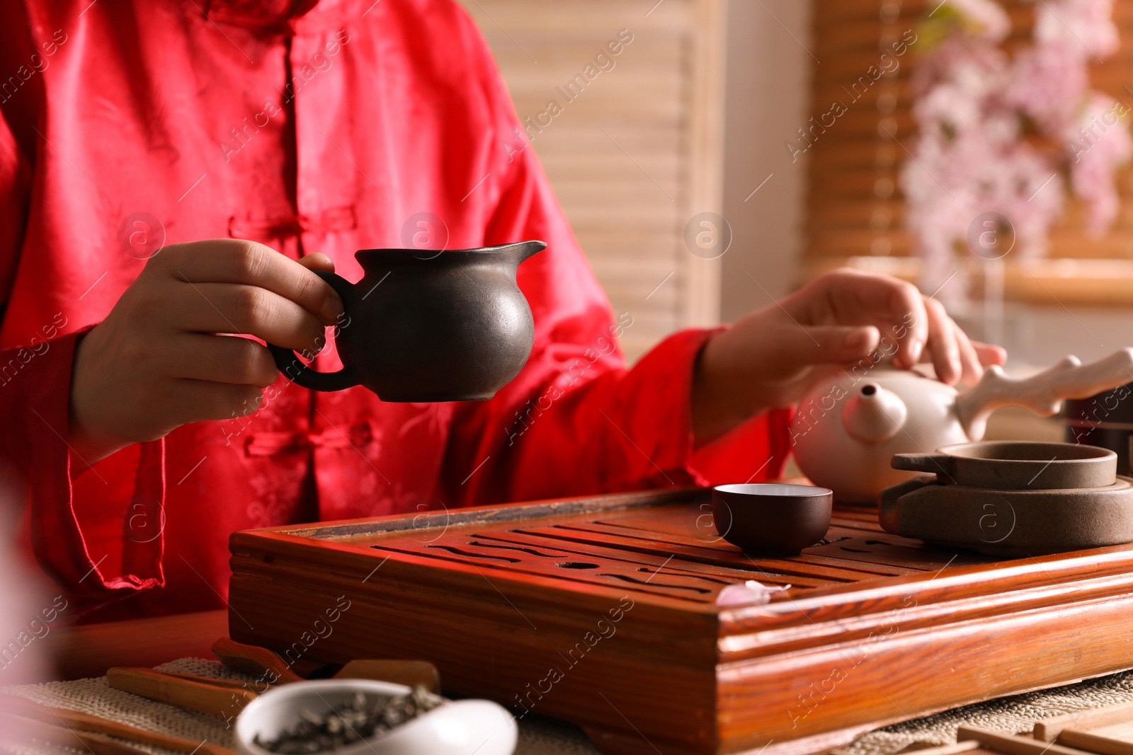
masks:
{"type": "Polygon", "coordinates": [[[88,619],[221,604],[233,530],[775,475],[790,405],[902,323],[904,367],[1003,359],[842,272],[628,370],[452,0],[16,0],[0,29],[0,458],[88,619]],[[535,349],[494,400],[314,394],[232,337],[315,348],[341,302],[310,269],[358,280],[353,251],[418,213],[450,248],[550,244],[519,272],[535,349]]]}

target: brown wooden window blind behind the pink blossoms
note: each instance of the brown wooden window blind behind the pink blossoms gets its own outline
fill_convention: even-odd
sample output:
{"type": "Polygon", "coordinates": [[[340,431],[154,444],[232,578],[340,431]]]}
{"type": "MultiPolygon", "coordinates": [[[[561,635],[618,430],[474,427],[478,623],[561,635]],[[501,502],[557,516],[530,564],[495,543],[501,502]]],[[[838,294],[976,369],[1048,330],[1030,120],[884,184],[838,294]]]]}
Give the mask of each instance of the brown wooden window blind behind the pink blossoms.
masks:
{"type": "MultiPolygon", "coordinates": [[[[813,53],[820,61],[812,79],[813,120],[784,144],[789,154],[799,151],[795,156],[809,161],[804,276],[851,264],[915,280],[920,265],[904,226],[898,174],[915,148],[911,77],[925,48],[921,20],[940,0],[813,1],[813,53]],[[894,45],[902,43],[906,49],[898,54],[894,45]],[[871,67],[881,74],[876,80],[871,67]],[[845,112],[832,117],[834,103],[845,112]]],[[[999,5],[1012,20],[1004,45],[1011,52],[1031,38],[1034,2],[999,5]]],[[[1114,22],[1122,45],[1093,62],[1090,79],[1133,108],[1133,0],[1115,2],[1114,22]]],[[[1087,233],[1083,209],[1071,198],[1051,230],[1047,258],[1025,266],[1006,259],[1008,300],[1133,307],[1133,172],[1122,171],[1117,181],[1122,209],[1106,235],[1087,233]]],[[[957,261],[970,266],[978,291],[979,260],[957,261]]]]}

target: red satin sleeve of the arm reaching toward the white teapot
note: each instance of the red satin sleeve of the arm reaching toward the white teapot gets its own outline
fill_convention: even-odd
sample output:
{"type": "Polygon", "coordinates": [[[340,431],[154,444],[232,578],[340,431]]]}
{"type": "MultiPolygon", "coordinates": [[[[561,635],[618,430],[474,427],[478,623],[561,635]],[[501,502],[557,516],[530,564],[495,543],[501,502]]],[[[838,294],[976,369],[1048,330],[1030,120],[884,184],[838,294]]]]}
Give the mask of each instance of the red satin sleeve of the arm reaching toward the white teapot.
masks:
{"type": "Polygon", "coordinates": [[[519,268],[535,317],[530,360],[492,401],[455,410],[446,499],[525,500],[782,474],[785,410],[693,454],[692,374],[714,331],[675,333],[627,369],[617,338],[633,327],[634,312],[611,311],[489,55],[482,63],[497,113],[494,174],[503,177],[485,243],[540,239],[548,247],[519,268]]]}

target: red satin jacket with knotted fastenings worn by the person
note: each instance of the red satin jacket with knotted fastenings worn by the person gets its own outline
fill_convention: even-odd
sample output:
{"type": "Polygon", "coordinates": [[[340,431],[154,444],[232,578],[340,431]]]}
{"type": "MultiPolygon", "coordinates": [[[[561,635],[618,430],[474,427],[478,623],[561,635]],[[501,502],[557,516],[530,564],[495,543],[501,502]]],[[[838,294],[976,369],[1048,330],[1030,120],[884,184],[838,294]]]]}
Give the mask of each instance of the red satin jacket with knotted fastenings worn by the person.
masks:
{"type": "Polygon", "coordinates": [[[611,312],[451,0],[14,0],[0,29],[0,465],[71,618],[222,606],[236,530],[781,472],[786,412],[693,460],[710,332],[625,368],[633,312],[611,312]],[[162,243],[321,251],[356,281],[353,251],[410,246],[420,213],[450,248],[550,244],[519,272],[535,349],[494,400],[281,378],[254,415],[69,465],[76,340],[162,243]]]}

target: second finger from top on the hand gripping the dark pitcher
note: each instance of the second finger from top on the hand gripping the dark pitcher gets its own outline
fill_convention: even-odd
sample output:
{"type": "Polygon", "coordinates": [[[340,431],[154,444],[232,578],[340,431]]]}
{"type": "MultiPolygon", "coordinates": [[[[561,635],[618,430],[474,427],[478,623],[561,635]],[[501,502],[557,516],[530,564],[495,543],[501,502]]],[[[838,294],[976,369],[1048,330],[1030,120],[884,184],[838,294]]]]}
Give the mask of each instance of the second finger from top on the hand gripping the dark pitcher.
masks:
{"type": "Polygon", "coordinates": [[[326,343],[323,321],[266,289],[227,283],[184,283],[167,302],[167,317],[196,333],[242,333],[288,349],[317,353],[326,343]]]}

